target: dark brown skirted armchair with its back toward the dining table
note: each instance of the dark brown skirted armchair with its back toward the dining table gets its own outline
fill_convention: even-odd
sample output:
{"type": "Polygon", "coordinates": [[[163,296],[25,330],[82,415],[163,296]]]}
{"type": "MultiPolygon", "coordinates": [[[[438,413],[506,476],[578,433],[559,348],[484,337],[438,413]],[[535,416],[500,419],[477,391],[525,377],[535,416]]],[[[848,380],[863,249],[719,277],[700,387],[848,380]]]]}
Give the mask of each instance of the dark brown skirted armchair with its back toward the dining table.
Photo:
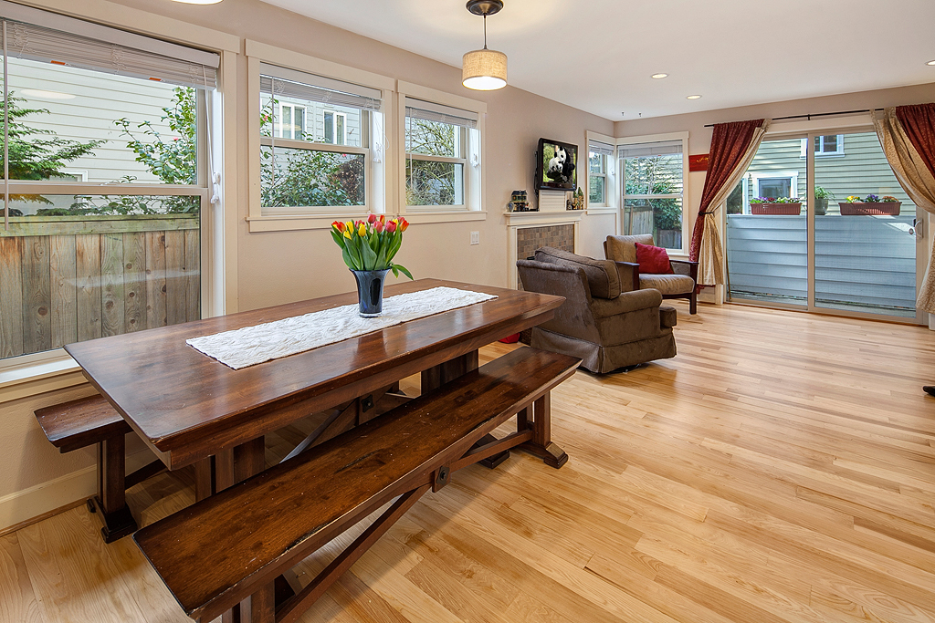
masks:
{"type": "Polygon", "coordinates": [[[621,284],[614,262],[544,247],[516,267],[524,290],[565,297],[530,346],[580,357],[598,374],[675,356],[675,309],[660,306],[658,290],[621,284]]]}

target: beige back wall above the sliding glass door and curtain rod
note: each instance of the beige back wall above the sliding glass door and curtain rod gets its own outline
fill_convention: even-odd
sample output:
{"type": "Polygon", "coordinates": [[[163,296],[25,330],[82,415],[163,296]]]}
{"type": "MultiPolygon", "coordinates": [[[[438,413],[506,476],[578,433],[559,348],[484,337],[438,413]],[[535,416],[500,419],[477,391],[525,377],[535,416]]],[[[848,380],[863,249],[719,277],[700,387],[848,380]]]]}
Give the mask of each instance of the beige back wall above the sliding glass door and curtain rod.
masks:
{"type": "MultiPolygon", "coordinates": [[[[657,135],[669,132],[688,131],[688,153],[703,154],[711,149],[713,129],[705,125],[711,123],[726,123],[728,121],[742,121],[750,119],[776,119],[792,115],[809,115],[826,112],[841,112],[850,110],[868,110],[870,108],[883,108],[885,106],[905,106],[909,104],[922,104],[935,101],[935,83],[923,84],[899,89],[885,89],[882,91],[845,93],[829,95],[827,97],[813,97],[787,102],[773,102],[759,106],[740,106],[736,108],[722,108],[709,110],[690,115],[672,115],[669,117],[656,117],[650,119],[617,121],[614,123],[614,136],[642,136],[657,135]]],[[[834,118],[814,119],[816,124],[833,123],[834,118]]],[[[869,120],[869,119],[868,119],[869,120]]],[[[789,120],[801,121],[801,120],[789,120]]],[[[770,128],[772,131],[782,131],[784,121],[775,121],[770,128]]],[[[688,231],[695,225],[698,205],[701,205],[701,191],[704,190],[704,172],[688,174],[687,192],[687,218],[688,231]]]]}

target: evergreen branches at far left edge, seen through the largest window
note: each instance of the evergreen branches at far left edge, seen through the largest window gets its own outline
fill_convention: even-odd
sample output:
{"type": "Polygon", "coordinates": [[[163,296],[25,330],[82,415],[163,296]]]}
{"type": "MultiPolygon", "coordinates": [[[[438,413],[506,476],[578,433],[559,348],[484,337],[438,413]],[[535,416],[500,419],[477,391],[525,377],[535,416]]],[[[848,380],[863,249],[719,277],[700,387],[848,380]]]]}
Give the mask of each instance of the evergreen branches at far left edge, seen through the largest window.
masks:
{"type": "MultiPolygon", "coordinates": [[[[2,81],[0,81],[2,84],[2,81]]],[[[94,148],[107,141],[79,141],[68,140],[56,136],[51,130],[39,130],[26,124],[25,119],[30,115],[48,115],[46,108],[24,108],[22,97],[15,97],[13,92],[7,96],[7,128],[9,152],[10,179],[51,179],[62,177],[62,169],[68,163],[81,156],[94,153],[94,148]]],[[[0,132],[3,132],[3,118],[0,117],[0,132]]],[[[0,177],[4,167],[3,153],[0,152],[0,177]]],[[[11,200],[27,201],[38,204],[51,202],[36,194],[11,194],[11,200]]]]}

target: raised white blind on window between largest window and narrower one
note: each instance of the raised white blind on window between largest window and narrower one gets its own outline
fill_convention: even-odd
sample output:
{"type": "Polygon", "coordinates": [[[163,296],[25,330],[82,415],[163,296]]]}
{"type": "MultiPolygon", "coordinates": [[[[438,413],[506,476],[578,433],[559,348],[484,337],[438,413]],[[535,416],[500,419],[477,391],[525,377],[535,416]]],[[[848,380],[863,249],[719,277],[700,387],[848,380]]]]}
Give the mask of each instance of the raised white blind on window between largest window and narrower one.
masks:
{"type": "Polygon", "coordinates": [[[380,110],[382,104],[379,89],[266,63],[260,64],[260,92],[361,110],[380,110]]]}

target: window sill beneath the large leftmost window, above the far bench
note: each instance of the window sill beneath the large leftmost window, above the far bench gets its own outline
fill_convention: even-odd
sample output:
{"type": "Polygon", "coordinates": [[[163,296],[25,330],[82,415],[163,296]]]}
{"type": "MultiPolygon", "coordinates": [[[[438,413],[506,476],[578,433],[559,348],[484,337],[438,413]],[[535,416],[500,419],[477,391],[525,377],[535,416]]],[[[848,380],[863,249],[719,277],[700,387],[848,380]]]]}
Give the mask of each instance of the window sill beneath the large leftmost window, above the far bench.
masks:
{"type": "Polygon", "coordinates": [[[87,383],[78,363],[61,348],[26,355],[0,370],[0,404],[87,383]]]}

